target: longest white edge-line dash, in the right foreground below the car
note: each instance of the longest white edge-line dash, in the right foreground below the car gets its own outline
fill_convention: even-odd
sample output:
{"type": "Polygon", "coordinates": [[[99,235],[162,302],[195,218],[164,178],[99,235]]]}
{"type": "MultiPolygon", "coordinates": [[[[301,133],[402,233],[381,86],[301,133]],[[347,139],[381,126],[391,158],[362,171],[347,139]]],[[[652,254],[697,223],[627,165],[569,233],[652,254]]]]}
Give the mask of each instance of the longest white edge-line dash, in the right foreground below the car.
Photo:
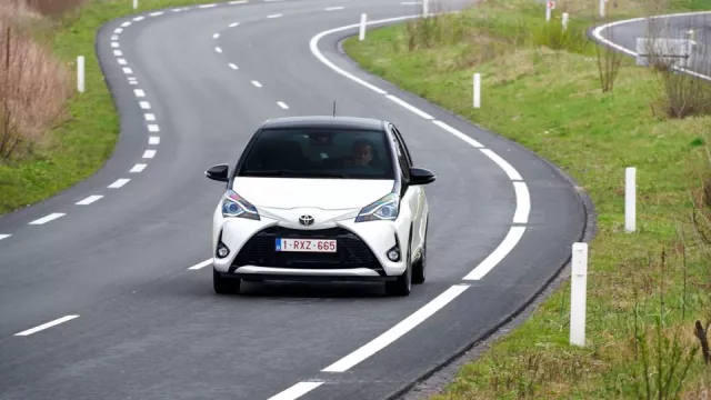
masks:
{"type": "Polygon", "coordinates": [[[424,304],[419,310],[414,311],[408,318],[400,321],[397,326],[390,328],[388,331],[362,346],[360,349],[336,361],[329,367],[322,369],[323,372],[343,372],[370,356],[377,353],[388,344],[395,341],[398,338],[412,330],[422,321],[428,319],[434,312],[447,306],[450,301],[454,300],[459,294],[463,293],[469,288],[469,284],[454,284],[435,297],[429,303],[424,304]]]}

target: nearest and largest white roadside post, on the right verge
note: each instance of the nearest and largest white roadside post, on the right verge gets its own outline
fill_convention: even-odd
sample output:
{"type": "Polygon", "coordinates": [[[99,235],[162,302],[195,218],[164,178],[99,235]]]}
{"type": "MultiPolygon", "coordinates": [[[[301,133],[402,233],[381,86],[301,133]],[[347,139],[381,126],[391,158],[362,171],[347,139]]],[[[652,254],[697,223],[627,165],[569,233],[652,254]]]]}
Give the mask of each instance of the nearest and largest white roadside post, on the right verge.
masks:
{"type": "Polygon", "coordinates": [[[570,344],[585,346],[585,297],[588,286],[588,243],[572,246],[570,278],[570,344]]]}

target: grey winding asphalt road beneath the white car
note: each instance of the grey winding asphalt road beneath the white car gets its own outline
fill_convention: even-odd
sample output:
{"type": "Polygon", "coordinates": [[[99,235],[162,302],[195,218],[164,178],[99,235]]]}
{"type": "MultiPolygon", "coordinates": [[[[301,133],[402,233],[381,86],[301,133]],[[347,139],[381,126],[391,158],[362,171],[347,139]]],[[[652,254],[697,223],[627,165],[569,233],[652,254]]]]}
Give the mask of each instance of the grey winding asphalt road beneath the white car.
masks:
{"type": "Polygon", "coordinates": [[[293,399],[306,388],[302,399],[382,399],[527,306],[582,237],[573,186],[519,146],[360,71],[338,50],[357,28],[313,39],[361,12],[413,11],[249,1],[106,26],[97,51],[121,116],[113,157],[0,218],[0,398],[293,399]],[[427,188],[428,281],[407,298],[346,283],[214,294],[210,267],[198,267],[223,186],[203,171],[236,162],[264,119],[330,114],[333,100],[339,114],[393,121],[415,163],[438,174],[427,188]],[[470,273],[478,279],[463,280],[470,273]],[[395,340],[371,342],[383,332],[395,340]],[[343,358],[354,361],[323,371],[343,358]]]}

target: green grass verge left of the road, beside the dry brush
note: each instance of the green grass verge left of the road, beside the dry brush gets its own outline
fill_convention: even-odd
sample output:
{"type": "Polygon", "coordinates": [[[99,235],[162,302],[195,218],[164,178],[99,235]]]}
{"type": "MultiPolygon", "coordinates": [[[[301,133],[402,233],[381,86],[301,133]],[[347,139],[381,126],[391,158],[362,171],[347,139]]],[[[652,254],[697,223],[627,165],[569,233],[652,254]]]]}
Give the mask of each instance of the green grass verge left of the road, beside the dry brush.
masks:
{"type": "MultiPolygon", "coordinates": [[[[211,1],[141,0],[138,11],[208,2],[211,1]]],[[[99,68],[94,39],[103,23],[133,12],[130,0],[92,1],[53,34],[42,32],[72,77],[77,57],[84,56],[86,91],[77,92],[68,101],[68,119],[49,132],[47,142],[31,157],[0,164],[0,214],[70,188],[93,174],[111,156],[119,134],[119,119],[99,68]]]]}

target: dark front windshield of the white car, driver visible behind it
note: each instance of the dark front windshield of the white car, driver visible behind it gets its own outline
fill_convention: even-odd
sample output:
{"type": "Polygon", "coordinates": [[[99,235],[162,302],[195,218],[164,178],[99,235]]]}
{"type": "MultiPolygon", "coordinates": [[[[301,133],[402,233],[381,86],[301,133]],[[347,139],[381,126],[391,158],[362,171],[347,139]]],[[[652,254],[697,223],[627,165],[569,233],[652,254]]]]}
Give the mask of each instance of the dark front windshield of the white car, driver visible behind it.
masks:
{"type": "Polygon", "coordinates": [[[382,131],[266,129],[238,176],[393,179],[393,169],[382,131]]]}

